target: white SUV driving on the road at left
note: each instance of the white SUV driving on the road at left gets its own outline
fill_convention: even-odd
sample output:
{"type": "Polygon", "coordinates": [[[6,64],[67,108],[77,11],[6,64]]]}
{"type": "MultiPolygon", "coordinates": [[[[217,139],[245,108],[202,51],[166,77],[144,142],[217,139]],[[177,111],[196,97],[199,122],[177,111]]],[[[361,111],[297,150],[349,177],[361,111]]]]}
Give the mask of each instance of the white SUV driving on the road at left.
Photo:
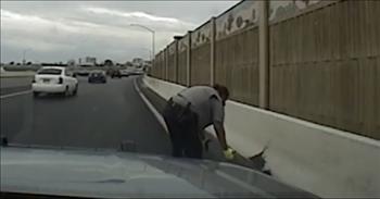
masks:
{"type": "Polygon", "coordinates": [[[78,80],[75,78],[75,74],[65,67],[47,66],[36,73],[31,88],[34,96],[38,96],[40,92],[76,95],[78,80]]]}

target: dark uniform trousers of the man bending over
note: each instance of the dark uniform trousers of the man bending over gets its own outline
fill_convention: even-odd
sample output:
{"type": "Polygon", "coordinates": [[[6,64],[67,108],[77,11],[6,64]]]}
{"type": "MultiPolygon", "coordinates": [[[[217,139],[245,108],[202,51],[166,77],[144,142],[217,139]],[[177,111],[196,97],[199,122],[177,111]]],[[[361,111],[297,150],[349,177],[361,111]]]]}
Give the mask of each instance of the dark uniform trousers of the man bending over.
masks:
{"type": "Polygon", "coordinates": [[[168,100],[163,113],[172,140],[174,157],[202,158],[202,141],[199,137],[198,115],[190,103],[180,105],[168,100]]]}

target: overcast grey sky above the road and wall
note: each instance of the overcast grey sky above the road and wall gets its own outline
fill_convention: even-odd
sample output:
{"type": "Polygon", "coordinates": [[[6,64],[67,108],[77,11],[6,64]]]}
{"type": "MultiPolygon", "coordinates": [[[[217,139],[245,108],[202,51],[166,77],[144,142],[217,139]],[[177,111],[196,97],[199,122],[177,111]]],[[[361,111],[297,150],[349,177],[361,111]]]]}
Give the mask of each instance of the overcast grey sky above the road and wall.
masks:
{"type": "Polygon", "coordinates": [[[96,57],[125,62],[149,58],[238,1],[1,1],[1,62],[66,62],[96,57]]]}

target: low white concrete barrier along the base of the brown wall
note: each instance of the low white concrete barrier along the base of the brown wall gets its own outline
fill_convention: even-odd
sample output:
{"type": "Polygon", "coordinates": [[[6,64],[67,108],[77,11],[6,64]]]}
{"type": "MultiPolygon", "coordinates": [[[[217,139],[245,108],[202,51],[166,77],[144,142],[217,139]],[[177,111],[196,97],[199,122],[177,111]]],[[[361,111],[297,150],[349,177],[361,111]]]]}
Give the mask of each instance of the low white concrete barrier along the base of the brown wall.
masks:
{"type": "MultiPolygon", "coordinates": [[[[185,87],[145,77],[164,99],[185,87]]],[[[320,197],[380,197],[380,141],[228,101],[228,144],[246,158],[261,152],[282,182],[320,197]]]]}

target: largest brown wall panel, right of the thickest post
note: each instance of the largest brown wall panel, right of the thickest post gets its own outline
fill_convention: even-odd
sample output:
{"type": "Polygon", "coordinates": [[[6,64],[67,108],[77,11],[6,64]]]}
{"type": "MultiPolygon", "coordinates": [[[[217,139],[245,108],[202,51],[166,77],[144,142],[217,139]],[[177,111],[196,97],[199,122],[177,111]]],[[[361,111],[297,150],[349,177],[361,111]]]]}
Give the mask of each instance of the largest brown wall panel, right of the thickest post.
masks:
{"type": "Polygon", "coordinates": [[[379,2],[339,1],[306,13],[276,3],[270,109],[379,139],[379,2]],[[281,7],[295,15],[278,14],[281,7]]]}

